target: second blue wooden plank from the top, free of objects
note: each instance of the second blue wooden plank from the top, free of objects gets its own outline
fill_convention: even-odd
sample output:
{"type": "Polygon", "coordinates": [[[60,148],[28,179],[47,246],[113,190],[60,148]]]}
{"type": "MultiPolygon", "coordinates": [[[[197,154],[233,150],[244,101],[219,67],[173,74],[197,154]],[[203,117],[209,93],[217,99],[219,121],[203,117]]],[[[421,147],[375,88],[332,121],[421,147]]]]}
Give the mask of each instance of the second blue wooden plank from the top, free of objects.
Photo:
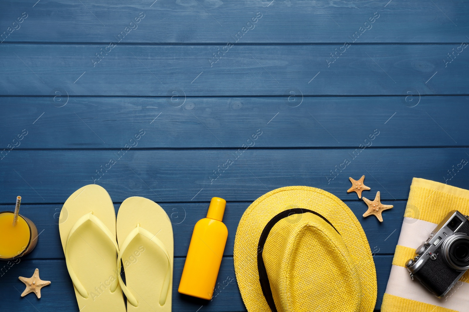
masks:
{"type": "Polygon", "coordinates": [[[213,64],[213,45],[117,45],[98,58],[104,45],[2,44],[0,94],[467,94],[469,54],[444,61],[457,47],[351,45],[333,58],[329,44],[238,45],[213,64]]]}

